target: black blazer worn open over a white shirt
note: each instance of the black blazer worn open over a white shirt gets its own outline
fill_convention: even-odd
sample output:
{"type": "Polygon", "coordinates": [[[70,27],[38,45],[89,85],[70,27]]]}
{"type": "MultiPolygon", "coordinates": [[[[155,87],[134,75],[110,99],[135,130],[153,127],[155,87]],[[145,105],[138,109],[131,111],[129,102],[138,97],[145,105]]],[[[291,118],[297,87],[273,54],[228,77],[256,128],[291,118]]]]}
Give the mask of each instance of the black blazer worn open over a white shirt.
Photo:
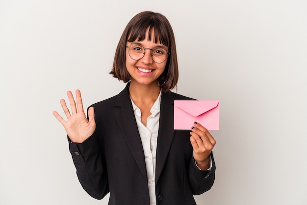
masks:
{"type": "MultiPolygon", "coordinates": [[[[96,199],[110,193],[109,205],[150,205],[144,151],[129,97],[129,83],[118,95],[94,105],[95,133],[70,152],[84,190],[96,199]]],[[[195,205],[193,195],[209,190],[211,171],[199,170],[193,159],[189,130],[174,130],[174,100],[191,100],[162,93],[156,151],[157,205],[195,205]]],[[[193,122],[187,122],[193,125],[193,122]]]]}

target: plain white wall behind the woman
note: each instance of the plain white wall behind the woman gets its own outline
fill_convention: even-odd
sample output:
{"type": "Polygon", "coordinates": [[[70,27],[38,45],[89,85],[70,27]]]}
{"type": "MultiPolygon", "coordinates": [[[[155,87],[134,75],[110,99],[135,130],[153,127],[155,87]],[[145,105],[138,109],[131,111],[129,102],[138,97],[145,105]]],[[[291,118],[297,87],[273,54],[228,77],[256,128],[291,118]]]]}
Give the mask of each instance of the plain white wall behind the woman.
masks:
{"type": "Polygon", "coordinates": [[[307,1],[0,0],[0,204],[107,205],[83,191],[60,98],[117,94],[108,72],[138,12],[171,22],[177,92],[220,100],[217,164],[198,205],[307,204],[307,1]]]}

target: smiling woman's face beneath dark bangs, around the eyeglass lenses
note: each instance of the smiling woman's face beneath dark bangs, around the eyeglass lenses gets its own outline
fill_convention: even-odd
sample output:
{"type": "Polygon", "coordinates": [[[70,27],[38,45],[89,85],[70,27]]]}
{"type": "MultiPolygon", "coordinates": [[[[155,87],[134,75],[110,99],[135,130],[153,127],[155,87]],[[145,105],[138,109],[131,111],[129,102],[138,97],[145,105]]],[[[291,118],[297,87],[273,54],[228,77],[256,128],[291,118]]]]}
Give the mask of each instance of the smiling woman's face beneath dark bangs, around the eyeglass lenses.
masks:
{"type": "MultiPolygon", "coordinates": [[[[148,36],[148,30],[145,36],[148,36]]],[[[153,32],[153,29],[152,29],[153,32]]],[[[152,33],[153,36],[153,33],[152,33]]],[[[126,67],[127,71],[131,76],[131,83],[137,83],[141,85],[154,85],[158,83],[158,77],[163,73],[167,59],[162,63],[156,63],[152,58],[152,50],[157,47],[163,47],[168,51],[168,48],[159,42],[154,43],[153,38],[150,41],[144,39],[143,41],[127,42],[127,46],[130,47],[132,44],[138,44],[145,48],[145,55],[142,59],[134,60],[129,56],[129,49],[126,48],[126,67]]]]}

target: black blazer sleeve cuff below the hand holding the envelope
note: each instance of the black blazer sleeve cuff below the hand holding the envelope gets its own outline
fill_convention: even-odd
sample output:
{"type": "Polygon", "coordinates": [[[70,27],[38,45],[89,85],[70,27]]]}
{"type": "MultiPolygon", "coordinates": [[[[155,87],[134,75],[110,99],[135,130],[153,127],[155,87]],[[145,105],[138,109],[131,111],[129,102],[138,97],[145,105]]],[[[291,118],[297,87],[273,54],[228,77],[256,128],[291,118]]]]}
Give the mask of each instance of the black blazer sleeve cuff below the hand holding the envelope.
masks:
{"type": "Polygon", "coordinates": [[[189,167],[189,181],[193,195],[203,194],[211,189],[215,179],[215,162],[211,152],[212,168],[210,171],[200,170],[192,156],[189,167]]]}

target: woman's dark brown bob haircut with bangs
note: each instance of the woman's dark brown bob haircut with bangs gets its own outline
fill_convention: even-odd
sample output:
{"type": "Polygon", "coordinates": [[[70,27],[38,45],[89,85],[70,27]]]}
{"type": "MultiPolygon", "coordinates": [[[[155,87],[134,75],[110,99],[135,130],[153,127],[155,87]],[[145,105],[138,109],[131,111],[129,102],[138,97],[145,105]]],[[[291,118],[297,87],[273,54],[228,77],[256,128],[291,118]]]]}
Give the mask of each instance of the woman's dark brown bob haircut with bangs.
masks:
{"type": "Polygon", "coordinates": [[[115,52],[113,67],[110,72],[114,78],[127,83],[130,75],[126,68],[126,43],[134,41],[142,41],[145,38],[154,43],[161,43],[167,46],[170,55],[168,56],[165,70],[159,77],[159,86],[163,92],[177,87],[178,82],[178,61],[176,53],[175,36],[171,24],[160,13],[144,11],[134,16],[126,26],[115,52]],[[149,28],[148,36],[146,29],[149,28]],[[153,36],[151,30],[153,29],[153,36]]]}

